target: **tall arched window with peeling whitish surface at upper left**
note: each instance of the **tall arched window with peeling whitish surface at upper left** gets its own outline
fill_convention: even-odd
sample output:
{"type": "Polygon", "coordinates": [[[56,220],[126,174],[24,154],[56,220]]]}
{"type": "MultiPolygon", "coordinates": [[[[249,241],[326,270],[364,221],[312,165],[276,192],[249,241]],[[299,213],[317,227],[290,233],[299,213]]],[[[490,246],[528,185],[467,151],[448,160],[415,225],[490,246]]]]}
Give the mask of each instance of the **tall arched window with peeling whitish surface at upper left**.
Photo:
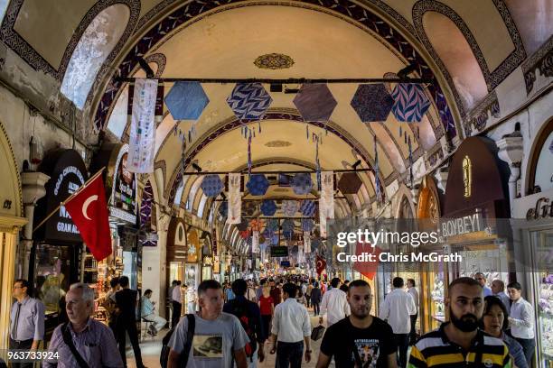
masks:
{"type": "Polygon", "coordinates": [[[109,6],[92,20],[73,51],[61,93],[80,109],[85,105],[98,70],[125,32],[129,16],[127,5],[109,6]]]}

